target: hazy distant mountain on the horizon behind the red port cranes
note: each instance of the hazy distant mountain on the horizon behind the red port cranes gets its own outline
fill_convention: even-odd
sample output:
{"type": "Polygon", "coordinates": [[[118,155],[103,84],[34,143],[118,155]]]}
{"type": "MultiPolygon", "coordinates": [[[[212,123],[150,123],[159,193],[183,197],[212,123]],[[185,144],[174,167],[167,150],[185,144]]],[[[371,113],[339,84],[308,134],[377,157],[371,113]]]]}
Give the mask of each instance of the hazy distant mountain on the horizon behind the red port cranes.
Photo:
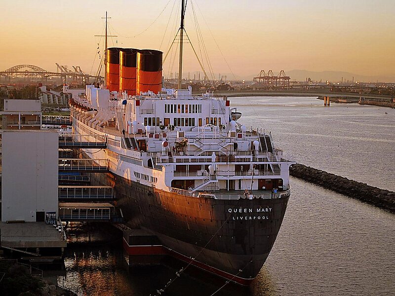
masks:
{"type": "Polygon", "coordinates": [[[314,81],[332,81],[332,82],[339,82],[343,81],[346,82],[347,80],[353,81],[362,81],[362,82],[395,82],[395,76],[367,76],[367,75],[358,75],[349,72],[341,72],[341,71],[322,71],[322,72],[314,72],[314,71],[307,71],[307,70],[292,70],[292,71],[285,71],[285,74],[291,77],[291,80],[297,81],[305,81],[306,77],[310,77],[314,81]]]}

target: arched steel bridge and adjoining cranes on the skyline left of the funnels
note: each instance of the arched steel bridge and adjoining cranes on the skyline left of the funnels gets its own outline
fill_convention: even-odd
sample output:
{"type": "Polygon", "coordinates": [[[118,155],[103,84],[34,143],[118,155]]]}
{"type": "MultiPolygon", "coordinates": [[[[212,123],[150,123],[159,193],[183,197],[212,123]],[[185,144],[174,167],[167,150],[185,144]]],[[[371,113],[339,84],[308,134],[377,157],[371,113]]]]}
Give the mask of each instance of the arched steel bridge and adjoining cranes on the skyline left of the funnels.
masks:
{"type": "MultiPolygon", "coordinates": [[[[66,82],[69,84],[73,83],[88,83],[89,79],[96,80],[96,76],[85,74],[81,71],[79,66],[73,66],[73,71],[67,69],[66,66],[60,66],[56,63],[57,70],[60,72],[51,72],[44,70],[35,65],[16,65],[7,70],[0,72],[0,77],[3,76],[11,80],[11,78],[15,77],[23,77],[30,80],[40,80],[44,79],[46,81],[47,78],[56,77],[60,78],[62,82],[66,82]]],[[[99,77],[100,79],[102,77],[99,77]]]]}

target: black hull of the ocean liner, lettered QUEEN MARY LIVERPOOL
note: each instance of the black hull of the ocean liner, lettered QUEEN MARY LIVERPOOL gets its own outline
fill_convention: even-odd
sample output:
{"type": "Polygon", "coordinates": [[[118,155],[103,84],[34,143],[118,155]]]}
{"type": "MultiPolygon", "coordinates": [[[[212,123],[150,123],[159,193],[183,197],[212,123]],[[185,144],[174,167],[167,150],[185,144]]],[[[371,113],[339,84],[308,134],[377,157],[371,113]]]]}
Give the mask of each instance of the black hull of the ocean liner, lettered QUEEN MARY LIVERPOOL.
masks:
{"type": "Polygon", "coordinates": [[[269,256],[289,199],[192,197],[115,178],[129,227],[156,235],[165,253],[242,285],[269,256]]]}

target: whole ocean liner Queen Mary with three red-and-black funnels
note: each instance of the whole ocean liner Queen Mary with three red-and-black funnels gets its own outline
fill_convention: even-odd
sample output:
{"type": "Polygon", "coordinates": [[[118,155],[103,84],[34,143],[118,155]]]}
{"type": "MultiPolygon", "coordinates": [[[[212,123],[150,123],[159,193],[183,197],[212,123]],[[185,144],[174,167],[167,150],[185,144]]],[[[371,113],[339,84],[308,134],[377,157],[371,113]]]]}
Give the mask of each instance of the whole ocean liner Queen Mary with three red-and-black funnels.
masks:
{"type": "Polygon", "coordinates": [[[63,91],[73,134],[107,143],[84,151],[108,159],[126,225],[155,235],[170,255],[248,285],[275,243],[293,162],[271,133],[239,122],[226,97],[181,89],[181,63],[179,89],[162,88],[162,52],[108,48],[105,60],[105,85],[63,91]]]}

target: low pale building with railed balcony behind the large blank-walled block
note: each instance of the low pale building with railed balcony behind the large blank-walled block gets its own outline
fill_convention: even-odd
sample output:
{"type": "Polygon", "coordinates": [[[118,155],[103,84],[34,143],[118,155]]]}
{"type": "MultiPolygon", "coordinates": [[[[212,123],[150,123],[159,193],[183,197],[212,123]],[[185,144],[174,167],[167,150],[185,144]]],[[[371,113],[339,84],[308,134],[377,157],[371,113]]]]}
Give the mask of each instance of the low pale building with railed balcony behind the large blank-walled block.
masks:
{"type": "Polygon", "coordinates": [[[40,100],[4,100],[3,130],[38,130],[41,128],[40,100]]]}

